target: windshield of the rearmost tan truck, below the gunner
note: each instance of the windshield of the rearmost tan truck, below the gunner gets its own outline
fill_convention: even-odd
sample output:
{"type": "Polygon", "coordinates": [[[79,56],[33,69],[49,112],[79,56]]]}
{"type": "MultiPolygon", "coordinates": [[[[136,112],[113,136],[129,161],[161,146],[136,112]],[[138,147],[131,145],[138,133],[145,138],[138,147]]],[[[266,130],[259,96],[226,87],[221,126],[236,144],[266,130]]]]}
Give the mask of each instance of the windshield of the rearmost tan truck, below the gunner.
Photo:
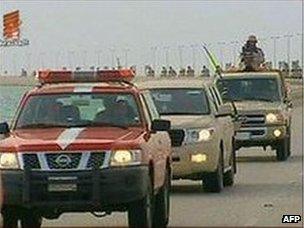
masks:
{"type": "Polygon", "coordinates": [[[281,100],[279,83],[276,78],[232,78],[221,80],[220,91],[225,89],[224,100],[268,101],[281,100]]]}

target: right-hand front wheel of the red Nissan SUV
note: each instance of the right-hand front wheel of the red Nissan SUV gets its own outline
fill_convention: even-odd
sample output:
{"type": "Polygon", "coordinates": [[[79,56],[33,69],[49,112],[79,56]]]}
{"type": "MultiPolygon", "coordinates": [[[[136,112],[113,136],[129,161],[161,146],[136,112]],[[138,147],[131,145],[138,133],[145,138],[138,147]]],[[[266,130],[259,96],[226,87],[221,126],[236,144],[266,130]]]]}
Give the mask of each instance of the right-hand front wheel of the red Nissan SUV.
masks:
{"type": "Polygon", "coordinates": [[[153,224],[153,188],[151,181],[148,184],[147,195],[129,205],[129,227],[152,227],[153,224]]]}

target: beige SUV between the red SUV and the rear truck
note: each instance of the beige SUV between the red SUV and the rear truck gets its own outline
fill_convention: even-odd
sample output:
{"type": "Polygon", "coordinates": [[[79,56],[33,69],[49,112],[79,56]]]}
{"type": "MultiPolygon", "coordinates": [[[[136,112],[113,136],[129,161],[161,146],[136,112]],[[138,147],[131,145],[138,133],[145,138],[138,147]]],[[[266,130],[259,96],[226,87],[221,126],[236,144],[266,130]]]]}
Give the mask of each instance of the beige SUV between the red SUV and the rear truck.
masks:
{"type": "Polygon", "coordinates": [[[150,91],[161,117],[171,121],[173,178],[202,180],[210,192],[233,185],[234,113],[214,83],[158,79],[138,85],[150,91]]]}

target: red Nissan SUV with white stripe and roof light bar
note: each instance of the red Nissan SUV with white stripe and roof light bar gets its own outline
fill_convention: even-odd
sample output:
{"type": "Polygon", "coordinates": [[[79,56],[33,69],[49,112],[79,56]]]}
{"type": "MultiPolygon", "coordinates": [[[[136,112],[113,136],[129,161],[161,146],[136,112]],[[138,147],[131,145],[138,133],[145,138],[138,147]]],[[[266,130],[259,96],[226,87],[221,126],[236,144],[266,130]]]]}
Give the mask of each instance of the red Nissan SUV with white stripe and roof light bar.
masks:
{"type": "Polygon", "coordinates": [[[132,227],[169,219],[170,122],[131,70],[42,71],[11,128],[0,124],[4,227],[65,212],[127,211],[132,227]]]}

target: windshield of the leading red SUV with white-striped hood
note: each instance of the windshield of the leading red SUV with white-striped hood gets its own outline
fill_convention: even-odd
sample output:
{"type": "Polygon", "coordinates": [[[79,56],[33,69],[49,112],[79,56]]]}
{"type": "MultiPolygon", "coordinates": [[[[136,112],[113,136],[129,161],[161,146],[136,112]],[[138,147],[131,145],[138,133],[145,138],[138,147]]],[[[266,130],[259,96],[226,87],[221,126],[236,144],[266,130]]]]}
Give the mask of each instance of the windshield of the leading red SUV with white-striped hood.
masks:
{"type": "Polygon", "coordinates": [[[16,128],[129,127],[140,124],[132,94],[33,95],[23,106],[16,128]]]}

